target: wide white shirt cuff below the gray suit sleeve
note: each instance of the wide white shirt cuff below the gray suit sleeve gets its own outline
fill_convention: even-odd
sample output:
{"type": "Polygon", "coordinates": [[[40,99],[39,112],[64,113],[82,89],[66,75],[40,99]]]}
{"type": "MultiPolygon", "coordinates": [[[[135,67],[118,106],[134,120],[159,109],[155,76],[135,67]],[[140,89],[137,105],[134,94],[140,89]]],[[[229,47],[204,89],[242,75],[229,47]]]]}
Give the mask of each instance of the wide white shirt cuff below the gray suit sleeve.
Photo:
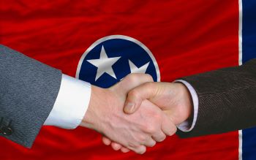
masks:
{"type": "Polygon", "coordinates": [[[44,125],[75,129],[86,114],[90,96],[90,83],[62,75],[59,94],[44,125]]]}

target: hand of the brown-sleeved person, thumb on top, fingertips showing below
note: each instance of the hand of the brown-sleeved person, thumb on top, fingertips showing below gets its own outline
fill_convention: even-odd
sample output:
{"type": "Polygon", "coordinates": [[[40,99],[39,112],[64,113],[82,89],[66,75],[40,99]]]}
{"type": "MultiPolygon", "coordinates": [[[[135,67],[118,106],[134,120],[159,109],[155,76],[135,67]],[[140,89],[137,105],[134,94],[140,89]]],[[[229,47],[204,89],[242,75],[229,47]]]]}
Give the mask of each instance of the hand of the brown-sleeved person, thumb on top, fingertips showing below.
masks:
{"type": "MultiPolygon", "coordinates": [[[[145,100],[156,104],[167,113],[173,131],[176,125],[186,121],[192,114],[192,99],[187,87],[182,83],[143,83],[129,91],[125,102],[124,112],[136,113],[145,100]]],[[[174,134],[175,132],[173,132],[174,134]]],[[[112,145],[114,150],[127,152],[127,148],[116,142],[111,142],[107,137],[102,137],[105,145],[112,145]]]]}

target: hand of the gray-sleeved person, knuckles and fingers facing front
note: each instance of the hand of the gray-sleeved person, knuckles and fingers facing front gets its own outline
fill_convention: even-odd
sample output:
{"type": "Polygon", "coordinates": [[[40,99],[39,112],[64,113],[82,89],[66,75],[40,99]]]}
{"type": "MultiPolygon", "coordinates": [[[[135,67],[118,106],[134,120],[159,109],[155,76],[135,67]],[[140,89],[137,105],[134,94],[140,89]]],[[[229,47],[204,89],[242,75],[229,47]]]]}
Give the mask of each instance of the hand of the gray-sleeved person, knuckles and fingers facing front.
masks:
{"type": "Polygon", "coordinates": [[[92,86],[89,108],[80,126],[95,129],[136,153],[144,153],[146,146],[165,140],[166,134],[176,132],[176,126],[159,107],[143,101],[134,114],[123,110],[128,91],[151,81],[149,75],[132,74],[108,89],[92,86]]]}

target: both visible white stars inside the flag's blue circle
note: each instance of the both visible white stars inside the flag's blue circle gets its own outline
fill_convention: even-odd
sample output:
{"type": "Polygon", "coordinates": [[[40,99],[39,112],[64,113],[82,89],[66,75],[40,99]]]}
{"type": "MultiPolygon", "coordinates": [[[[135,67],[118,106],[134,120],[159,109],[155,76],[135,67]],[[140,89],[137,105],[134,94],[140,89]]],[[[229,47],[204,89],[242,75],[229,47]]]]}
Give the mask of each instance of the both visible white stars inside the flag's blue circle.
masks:
{"type": "MultiPolygon", "coordinates": [[[[87,60],[90,64],[96,66],[97,69],[97,75],[95,77],[95,81],[99,79],[104,73],[107,73],[111,77],[114,77],[116,79],[116,74],[113,71],[113,64],[118,61],[118,59],[121,57],[113,57],[108,58],[108,55],[105,51],[104,46],[102,46],[102,50],[100,51],[99,59],[90,59],[87,60]]],[[[129,68],[131,69],[131,73],[146,73],[146,69],[148,68],[150,62],[144,64],[143,66],[135,66],[135,64],[132,63],[132,61],[129,60],[129,68]]]]}

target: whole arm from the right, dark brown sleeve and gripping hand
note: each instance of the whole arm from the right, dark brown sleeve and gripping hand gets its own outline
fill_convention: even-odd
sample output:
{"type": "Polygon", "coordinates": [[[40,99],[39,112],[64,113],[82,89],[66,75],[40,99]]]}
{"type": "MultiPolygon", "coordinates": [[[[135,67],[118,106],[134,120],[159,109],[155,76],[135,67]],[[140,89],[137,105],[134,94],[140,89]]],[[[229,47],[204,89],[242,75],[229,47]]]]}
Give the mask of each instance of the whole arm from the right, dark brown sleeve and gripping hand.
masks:
{"type": "MultiPolygon", "coordinates": [[[[195,137],[256,126],[255,68],[256,59],[243,66],[181,78],[196,91],[198,113],[194,128],[178,134],[195,137]]],[[[186,88],[177,83],[145,83],[129,91],[127,104],[135,104],[135,107],[130,110],[125,106],[124,111],[133,113],[144,99],[148,99],[165,110],[177,126],[184,121],[190,122],[191,126],[195,112],[192,110],[192,93],[186,88]]]]}

